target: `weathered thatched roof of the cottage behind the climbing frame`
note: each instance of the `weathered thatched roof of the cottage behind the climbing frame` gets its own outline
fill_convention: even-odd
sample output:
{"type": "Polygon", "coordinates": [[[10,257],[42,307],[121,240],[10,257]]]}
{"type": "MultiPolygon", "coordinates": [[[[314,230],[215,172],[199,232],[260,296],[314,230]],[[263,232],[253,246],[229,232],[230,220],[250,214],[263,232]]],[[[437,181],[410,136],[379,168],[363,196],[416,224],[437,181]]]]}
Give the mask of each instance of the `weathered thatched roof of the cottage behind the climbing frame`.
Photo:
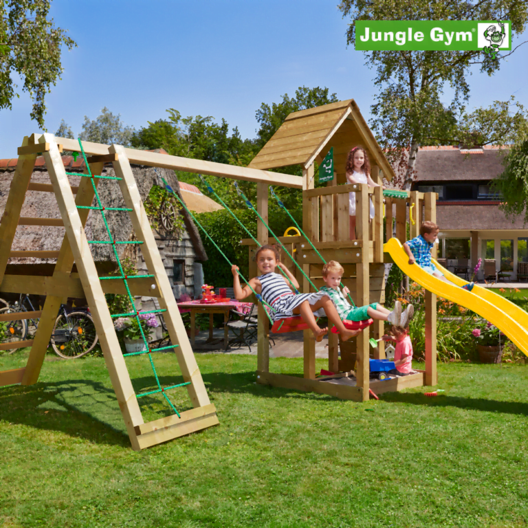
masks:
{"type": "MultiPolygon", "coordinates": [[[[74,162],[72,156],[64,156],[63,163],[67,167],[68,172],[83,172],[84,162],[80,157],[74,162]]],[[[10,160],[0,160],[0,214],[3,214],[5,203],[8,199],[15,164],[13,164],[12,161],[10,162],[10,160]]],[[[157,168],[155,170],[152,167],[133,165],[132,171],[142,200],[146,199],[148,192],[150,192],[153,185],[161,183],[159,177],[164,177],[164,179],[168,181],[168,184],[175,190],[175,192],[177,192],[179,197],[184,199],[181,196],[179,181],[173,170],[166,168],[157,168]]],[[[112,166],[105,166],[102,175],[115,175],[112,166]]],[[[77,186],[79,184],[80,177],[69,176],[68,178],[72,186],[77,186]]],[[[43,184],[50,183],[50,177],[45,168],[43,157],[37,158],[31,181],[43,184]]],[[[101,179],[98,185],[98,192],[105,207],[125,206],[117,181],[101,179]]],[[[95,199],[92,205],[97,205],[95,199]]],[[[192,245],[195,248],[196,259],[206,261],[208,257],[203,248],[197,227],[185,210],[182,210],[181,214],[184,215],[186,230],[192,240],[192,245]]],[[[21,216],[61,218],[53,193],[39,191],[28,191],[26,193],[21,216]]],[[[132,239],[132,223],[126,212],[109,211],[106,213],[106,217],[112,236],[115,237],[115,240],[129,241],[132,239]]],[[[65,230],[63,227],[19,225],[17,227],[17,234],[14,239],[12,250],[58,250],[61,247],[64,232],[65,230]]],[[[107,231],[104,227],[100,212],[90,211],[86,225],[86,234],[89,240],[108,240],[107,231]]],[[[167,238],[170,237],[172,237],[172,235],[169,234],[167,238]]],[[[120,245],[120,256],[124,254],[127,248],[130,248],[130,246],[120,245]]],[[[109,245],[96,244],[92,246],[91,251],[95,261],[115,260],[113,254],[111,254],[111,247],[109,245]]],[[[15,261],[12,260],[10,262],[13,263],[15,261]]],[[[17,259],[17,262],[37,263],[42,261],[40,259],[17,259]]]]}

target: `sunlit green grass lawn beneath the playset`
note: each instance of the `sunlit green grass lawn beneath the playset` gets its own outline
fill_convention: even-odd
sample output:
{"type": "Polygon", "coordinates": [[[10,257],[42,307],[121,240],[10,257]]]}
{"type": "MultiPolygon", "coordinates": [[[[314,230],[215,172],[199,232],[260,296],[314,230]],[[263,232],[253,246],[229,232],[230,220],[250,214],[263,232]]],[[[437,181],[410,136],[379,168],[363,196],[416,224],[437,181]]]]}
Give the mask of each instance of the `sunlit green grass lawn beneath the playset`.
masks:
{"type": "MultiPolygon", "coordinates": [[[[100,358],[47,361],[39,384],[0,388],[0,525],[527,525],[527,366],[439,364],[441,397],[421,388],[358,404],[256,385],[254,356],[197,361],[220,425],[142,452],[100,358]]],[[[159,373],[174,362],[157,356],[159,373]]],[[[145,358],[127,363],[136,390],[152,385],[145,358]]],[[[172,394],[188,407],[185,389],[172,394]]],[[[155,398],[142,408],[165,412],[155,398]]]]}

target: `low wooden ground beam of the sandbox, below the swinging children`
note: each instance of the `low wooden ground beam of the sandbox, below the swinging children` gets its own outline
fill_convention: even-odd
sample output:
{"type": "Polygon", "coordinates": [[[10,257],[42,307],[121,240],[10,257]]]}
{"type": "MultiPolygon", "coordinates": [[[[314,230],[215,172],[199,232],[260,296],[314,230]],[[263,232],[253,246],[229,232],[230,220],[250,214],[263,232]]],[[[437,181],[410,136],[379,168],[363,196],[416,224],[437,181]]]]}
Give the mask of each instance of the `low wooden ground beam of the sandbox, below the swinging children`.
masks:
{"type": "MultiPolygon", "coordinates": [[[[259,371],[256,373],[256,382],[261,385],[271,385],[273,387],[293,388],[296,391],[327,394],[340,399],[351,399],[353,401],[363,400],[363,391],[360,386],[341,385],[303,377],[259,371]]],[[[368,391],[366,399],[369,399],[368,391]]]]}

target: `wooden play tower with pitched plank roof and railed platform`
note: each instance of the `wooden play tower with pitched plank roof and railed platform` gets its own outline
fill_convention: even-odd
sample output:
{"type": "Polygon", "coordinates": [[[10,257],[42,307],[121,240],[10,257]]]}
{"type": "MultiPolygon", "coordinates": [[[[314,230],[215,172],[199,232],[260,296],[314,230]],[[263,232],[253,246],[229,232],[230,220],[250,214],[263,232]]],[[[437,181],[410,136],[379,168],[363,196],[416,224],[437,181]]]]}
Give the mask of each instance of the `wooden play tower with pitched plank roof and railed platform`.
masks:
{"type": "MultiPolygon", "coordinates": [[[[309,237],[325,261],[336,260],[344,267],[343,284],[349,287],[356,305],[384,303],[384,263],[391,262],[384,253],[384,223],[386,237],[395,236],[406,241],[406,225],[410,221],[411,238],[419,234],[419,225],[424,220],[436,220],[434,192],[407,192],[406,197],[384,196],[381,187],[369,189],[366,185],[345,184],[345,162],[353,146],[363,146],[369,154],[374,181],[381,184],[382,177],[389,181],[394,173],[377,144],[373,133],[362,118],[354,100],[327,104],[323,107],[291,113],[280,129],[263,147],[250,167],[259,169],[278,168],[294,164],[303,167],[303,231],[309,237]],[[333,181],[326,187],[314,188],[316,175],[314,161],[322,162],[333,147],[333,181]],[[343,184],[343,185],[342,185],[343,184]],[[356,194],[356,234],[349,238],[349,192],[356,194]],[[369,200],[372,199],[375,217],[369,222],[369,200]],[[412,208],[409,216],[409,209],[412,208]],[[394,212],[393,212],[394,211],[394,212]],[[393,219],[395,222],[393,222],[393,219]]],[[[257,208],[267,222],[267,188],[259,187],[257,208]]],[[[267,229],[258,222],[258,240],[261,244],[274,243],[267,229]]],[[[302,236],[280,237],[289,245],[296,260],[311,281],[320,287],[322,283],[322,261],[302,236]]],[[[253,256],[256,245],[250,239],[250,276],[256,276],[253,256]]],[[[434,256],[434,255],[433,255],[434,256]]],[[[291,261],[285,262],[296,274],[291,261]]],[[[299,281],[300,282],[300,281],[299,281]]],[[[303,292],[311,286],[303,278],[303,292]]],[[[369,338],[380,338],[384,333],[384,322],[374,321],[369,329],[348,342],[338,342],[338,336],[329,333],[329,365],[332,372],[341,374],[331,381],[316,380],[315,340],[311,331],[304,331],[304,378],[270,372],[268,322],[261,313],[259,317],[257,382],[301,391],[314,391],[344,399],[364,401],[369,399],[369,388],[375,393],[400,391],[403,388],[435,385],[436,372],[436,296],[426,292],[426,369],[406,377],[395,377],[388,381],[369,380],[369,338]],[[338,349],[339,347],[339,349],[338,349]],[[338,358],[340,350],[341,359],[338,358]],[[355,370],[355,376],[351,371],[355,370]],[[341,378],[341,380],[340,380],[341,378]],[[339,381],[340,380],[340,381],[339,381]]],[[[263,312],[263,308],[261,308],[263,312]]],[[[385,358],[384,342],[373,349],[374,358],[385,358]]]]}

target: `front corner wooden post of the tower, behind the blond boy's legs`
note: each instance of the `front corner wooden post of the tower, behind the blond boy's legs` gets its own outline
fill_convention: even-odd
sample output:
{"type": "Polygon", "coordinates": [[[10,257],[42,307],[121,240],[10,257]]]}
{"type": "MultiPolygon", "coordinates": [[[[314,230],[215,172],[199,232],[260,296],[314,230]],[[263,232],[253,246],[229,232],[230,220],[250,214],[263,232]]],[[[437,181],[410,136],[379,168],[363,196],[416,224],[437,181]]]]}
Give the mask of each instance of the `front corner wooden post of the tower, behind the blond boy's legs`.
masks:
{"type": "MultiPolygon", "coordinates": [[[[361,252],[361,261],[355,265],[356,276],[356,305],[364,306],[369,304],[369,212],[370,198],[369,187],[365,184],[358,184],[360,192],[355,193],[355,211],[356,211],[356,232],[358,240],[363,241],[361,252]]],[[[369,399],[369,329],[366,328],[358,334],[356,349],[356,377],[358,386],[363,388],[363,401],[369,399]]]]}

